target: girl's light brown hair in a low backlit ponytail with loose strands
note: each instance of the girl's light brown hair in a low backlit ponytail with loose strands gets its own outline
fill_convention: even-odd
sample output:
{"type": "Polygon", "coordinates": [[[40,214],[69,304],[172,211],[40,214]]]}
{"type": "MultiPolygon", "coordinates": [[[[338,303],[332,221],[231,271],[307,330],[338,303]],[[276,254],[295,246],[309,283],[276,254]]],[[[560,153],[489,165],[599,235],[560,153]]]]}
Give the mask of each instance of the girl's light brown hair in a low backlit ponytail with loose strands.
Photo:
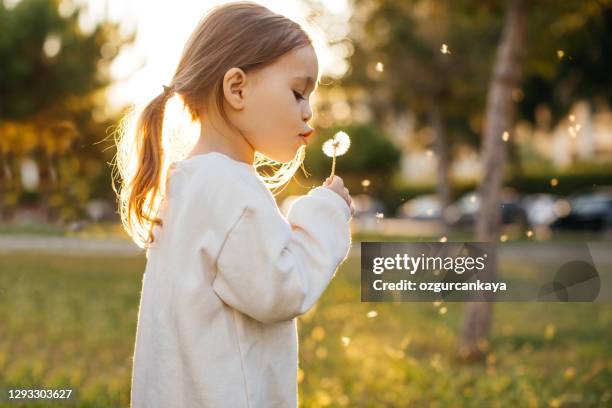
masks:
{"type": "MultiPolygon", "coordinates": [[[[209,100],[214,100],[228,121],[223,109],[223,76],[228,69],[260,69],[308,45],[312,41],[299,24],[252,2],[217,6],[204,16],[183,49],[171,83],[140,113],[126,115],[116,133],[115,170],[121,178],[121,189],[115,192],[123,227],[136,244],[145,248],[153,243],[153,229],[162,225],[157,217],[166,189],[162,180],[166,180],[170,163],[184,158],[190,142],[179,134],[183,140],[169,148],[165,139],[172,136],[168,133],[176,134],[176,129],[168,131],[164,124],[169,100],[180,99],[184,116],[191,124],[200,121],[204,101],[209,100]]],[[[253,165],[264,169],[258,174],[276,194],[303,160],[302,146],[288,163],[277,163],[256,152],[253,165]]]]}

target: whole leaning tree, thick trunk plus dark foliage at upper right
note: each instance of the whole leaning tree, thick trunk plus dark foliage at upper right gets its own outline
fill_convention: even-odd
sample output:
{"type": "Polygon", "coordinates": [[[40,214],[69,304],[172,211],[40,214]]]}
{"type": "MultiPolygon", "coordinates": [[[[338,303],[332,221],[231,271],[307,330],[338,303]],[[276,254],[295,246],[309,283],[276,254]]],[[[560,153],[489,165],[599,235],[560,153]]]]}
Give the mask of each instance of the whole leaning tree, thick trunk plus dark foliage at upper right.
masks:
{"type": "MultiPolygon", "coordinates": [[[[610,30],[606,23],[610,21],[612,12],[608,1],[536,5],[513,0],[509,4],[485,108],[477,241],[499,240],[500,197],[516,102],[523,101],[522,113],[532,120],[536,106],[545,103],[552,108],[556,122],[577,98],[612,99],[612,80],[606,71],[610,66],[610,52],[606,51],[612,51],[606,35],[610,30]],[[527,38],[538,41],[527,42],[527,38]],[[524,66],[529,76],[523,92],[520,85],[524,66]]],[[[489,254],[488,264],[489,279],[494,279],[498,267],[496,251],[489,254]]],[[[492,303],[466,305],[459,344],[462,357],[481,358],[486,352],[483,345],[487,344],[492,306],[492,303]]]]}

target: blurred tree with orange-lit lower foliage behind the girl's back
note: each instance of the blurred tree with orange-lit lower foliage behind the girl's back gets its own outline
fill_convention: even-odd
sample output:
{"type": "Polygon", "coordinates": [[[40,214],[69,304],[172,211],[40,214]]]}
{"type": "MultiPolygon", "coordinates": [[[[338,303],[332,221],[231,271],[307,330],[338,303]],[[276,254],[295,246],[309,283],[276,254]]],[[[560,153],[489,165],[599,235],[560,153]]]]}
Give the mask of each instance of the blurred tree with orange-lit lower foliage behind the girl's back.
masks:
{"type": "MultiPolygon", "coordinates": [[[[0,135],[3,207],[16,205],[24,158],[36,161],[38,189],[51,219],[75,219],[91,197],[112,197],[112,152],[96,142],[117,118],[104,113],[109,67],[134,36],[102,21],[79,26],[81,8],[60,13],[59,0],[0,2],[0,135]],[[9,179],[6,179],[9,177],[9,179]]],[[[10,213],[11,211],[9,211],[10,213]]]]}

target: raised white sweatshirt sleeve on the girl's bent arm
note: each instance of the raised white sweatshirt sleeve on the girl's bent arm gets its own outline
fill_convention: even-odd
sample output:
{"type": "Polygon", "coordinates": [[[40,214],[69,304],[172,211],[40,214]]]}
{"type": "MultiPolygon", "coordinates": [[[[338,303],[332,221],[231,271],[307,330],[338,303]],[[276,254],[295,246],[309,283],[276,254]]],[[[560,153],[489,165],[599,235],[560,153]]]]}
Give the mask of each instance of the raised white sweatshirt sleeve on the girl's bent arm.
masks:
{"type": "Polygon", "coordinates": [[[322,186],[297,199],[287,219],[269,202],[245,205],[221,247],[213,290],[263,323],[305,313],[348,255],[350,217],[322,186]]]}

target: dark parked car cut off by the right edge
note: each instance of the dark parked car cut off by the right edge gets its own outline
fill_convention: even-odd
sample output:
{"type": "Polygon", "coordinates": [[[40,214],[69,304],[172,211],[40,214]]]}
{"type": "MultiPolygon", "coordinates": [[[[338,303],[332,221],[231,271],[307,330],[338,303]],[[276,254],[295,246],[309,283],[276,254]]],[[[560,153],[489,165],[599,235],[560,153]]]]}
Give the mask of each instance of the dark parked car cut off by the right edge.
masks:
{"type": "Polygon", "coordinates": [[[612,228],[612,186],[600,187],[568,197],[569,211],[553,229],[602,231],[612,228]]]}

